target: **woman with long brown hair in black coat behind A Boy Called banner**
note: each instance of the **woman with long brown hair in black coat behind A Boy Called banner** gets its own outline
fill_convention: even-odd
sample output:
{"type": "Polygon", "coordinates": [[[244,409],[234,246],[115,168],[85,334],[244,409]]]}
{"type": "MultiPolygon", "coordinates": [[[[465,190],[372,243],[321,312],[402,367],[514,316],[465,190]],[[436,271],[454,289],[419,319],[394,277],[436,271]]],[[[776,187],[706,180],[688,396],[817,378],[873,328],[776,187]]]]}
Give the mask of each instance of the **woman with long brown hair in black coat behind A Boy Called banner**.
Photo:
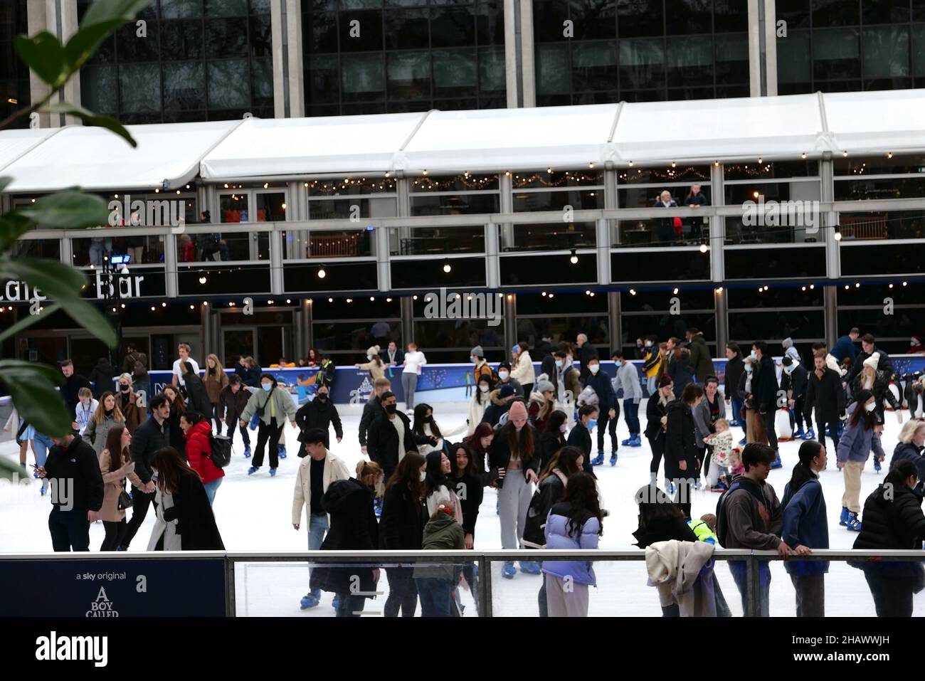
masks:
{"type": "Polygon", "coordinates": [[[224,551],[203,481],[173,447],[154,452],[157,520],[148,551],[224,551]]]}

